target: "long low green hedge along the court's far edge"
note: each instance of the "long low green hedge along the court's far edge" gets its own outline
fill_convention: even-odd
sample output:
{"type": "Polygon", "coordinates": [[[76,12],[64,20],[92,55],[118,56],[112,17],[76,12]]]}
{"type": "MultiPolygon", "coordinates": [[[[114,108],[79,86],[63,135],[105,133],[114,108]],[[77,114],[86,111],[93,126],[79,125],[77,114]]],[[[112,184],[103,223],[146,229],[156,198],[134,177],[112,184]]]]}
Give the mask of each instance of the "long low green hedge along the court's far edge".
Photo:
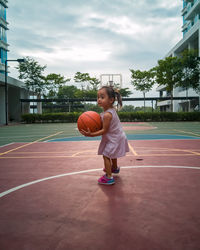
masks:
{"type": "MultiPolygon", "coordinates": [[[[122,122],[138,121],[200,121],[200,112],[119,112],[122,122]]],[[[77,122],[81,112],[25,114],[22,121],[25,123],[46,122],[77,122]]]]}

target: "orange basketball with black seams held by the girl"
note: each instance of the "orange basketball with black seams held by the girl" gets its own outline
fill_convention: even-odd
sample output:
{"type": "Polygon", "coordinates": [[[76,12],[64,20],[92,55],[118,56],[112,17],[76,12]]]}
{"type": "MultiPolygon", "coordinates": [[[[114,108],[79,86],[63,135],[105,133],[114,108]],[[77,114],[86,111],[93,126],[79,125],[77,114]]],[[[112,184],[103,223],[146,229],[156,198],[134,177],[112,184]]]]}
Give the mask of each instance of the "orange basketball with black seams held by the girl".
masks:
{"type": "Polygon", "coordinates": [[[96,132],[102,128],[101,117],[94,111],[87,111],[81,114],[77,121],[78,130],[90,129],[91,132],[96,132]]]}

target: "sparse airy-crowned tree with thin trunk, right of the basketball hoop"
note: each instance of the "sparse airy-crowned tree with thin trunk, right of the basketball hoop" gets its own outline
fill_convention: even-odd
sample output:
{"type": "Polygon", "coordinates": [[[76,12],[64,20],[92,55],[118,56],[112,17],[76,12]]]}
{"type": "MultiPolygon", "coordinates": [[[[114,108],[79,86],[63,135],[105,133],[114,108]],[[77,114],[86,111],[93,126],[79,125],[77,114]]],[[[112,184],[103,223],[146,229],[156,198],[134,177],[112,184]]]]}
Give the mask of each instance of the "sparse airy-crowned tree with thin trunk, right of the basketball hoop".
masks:
{"type": "Polygon", "coordinates": [[[144,111],[145,111],[145,94],[149,92],[154,83],[154,74],[151,70],[149,71],[141,71],[141,70],[133,70],[131,71],[131,84],[135,87],[136,90],[142,91],[144,96],[144,111]]]}

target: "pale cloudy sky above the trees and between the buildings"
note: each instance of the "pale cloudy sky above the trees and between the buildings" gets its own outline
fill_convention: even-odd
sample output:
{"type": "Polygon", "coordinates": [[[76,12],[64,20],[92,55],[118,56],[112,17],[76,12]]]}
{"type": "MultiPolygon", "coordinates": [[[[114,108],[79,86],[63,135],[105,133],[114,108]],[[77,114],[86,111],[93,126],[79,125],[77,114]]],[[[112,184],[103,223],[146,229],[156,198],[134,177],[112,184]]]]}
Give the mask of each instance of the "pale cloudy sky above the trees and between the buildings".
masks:
{"type": "Polygon", "coordinates": [[[182,38],[181,10],[180,0],[10,0],[8,59],[29,56],[67,78],[122,74],[130,87],[129,69],[150,69],[182,38]]]}

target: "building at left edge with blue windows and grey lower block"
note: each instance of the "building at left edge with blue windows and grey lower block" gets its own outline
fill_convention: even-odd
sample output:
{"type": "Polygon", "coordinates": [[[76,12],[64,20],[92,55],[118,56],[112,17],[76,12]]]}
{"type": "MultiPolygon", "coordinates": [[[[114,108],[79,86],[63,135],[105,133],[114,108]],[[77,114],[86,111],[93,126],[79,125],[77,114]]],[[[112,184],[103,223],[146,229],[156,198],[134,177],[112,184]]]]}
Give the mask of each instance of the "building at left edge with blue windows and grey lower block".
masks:
{"type": "MultiPolygon", "coordinates": [[[[7,3],[7,0],[0,0],[0,125],[6,123],[5,62],[9,51],[7,43],[8,22],[6,19],[7,3]]],[[[21,120],[22,113],[29,112],[29,106],[22,106],[20,103],[21,98],[28,98],[28,91],[23,82],[9,76],[7,77],[7,84],[8,122],[18,122],[21,120]]]]}

